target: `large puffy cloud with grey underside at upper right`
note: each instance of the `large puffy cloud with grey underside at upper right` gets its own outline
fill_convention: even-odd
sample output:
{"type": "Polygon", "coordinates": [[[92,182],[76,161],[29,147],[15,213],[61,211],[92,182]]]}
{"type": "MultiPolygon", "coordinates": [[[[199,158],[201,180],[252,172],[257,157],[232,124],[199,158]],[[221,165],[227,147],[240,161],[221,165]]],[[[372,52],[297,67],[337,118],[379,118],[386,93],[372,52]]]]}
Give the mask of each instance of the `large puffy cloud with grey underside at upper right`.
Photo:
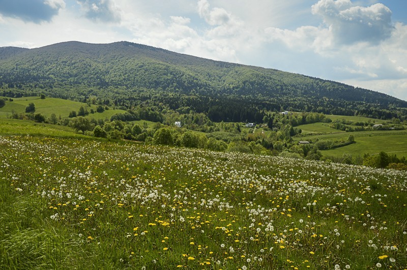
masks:
{"type": "Polygon", "coordinates": [[[335,42],[377,44],[391,36],[391,10],[383,4],[354,6],[350,0],[319,0],[312,13],[323,18],[335,42]]]}

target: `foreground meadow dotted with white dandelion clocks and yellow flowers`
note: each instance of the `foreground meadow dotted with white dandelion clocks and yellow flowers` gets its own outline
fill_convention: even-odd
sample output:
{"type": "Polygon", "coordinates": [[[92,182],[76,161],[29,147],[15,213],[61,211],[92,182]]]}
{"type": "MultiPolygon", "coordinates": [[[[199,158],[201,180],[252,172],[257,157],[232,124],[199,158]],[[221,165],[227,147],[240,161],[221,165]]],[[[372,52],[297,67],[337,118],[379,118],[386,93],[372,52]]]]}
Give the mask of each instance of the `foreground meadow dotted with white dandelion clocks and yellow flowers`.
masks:
{"type": "Polygon", "coordinates": [[[0,137],[1,268],[407,268],[407,173],[0,137]]]}

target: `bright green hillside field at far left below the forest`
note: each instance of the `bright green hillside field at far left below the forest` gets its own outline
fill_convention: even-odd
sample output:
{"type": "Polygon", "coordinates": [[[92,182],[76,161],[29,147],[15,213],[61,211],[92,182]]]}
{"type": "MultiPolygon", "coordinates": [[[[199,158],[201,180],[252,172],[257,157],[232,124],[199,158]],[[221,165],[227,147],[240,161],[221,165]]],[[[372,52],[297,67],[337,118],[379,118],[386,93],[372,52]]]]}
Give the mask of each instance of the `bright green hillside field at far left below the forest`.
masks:
{"type": "MultiPolygon", "coordinates": [[[[6,105],[0,108],[0,118],[10,117],[13,112],[24,113],[25,107],[30,104],[35,104],[35,112],[41,113],[45,117],[49,117],[51,114],[55,114],[57,117],[65,118],[69,116],[69,113],[72,111],[78,112],[79,108],[87,109],[88,112],[91,108],[96,112],[96,105],[91,105],[89,107],[86,103],[74,102],[72,100],[46,97],[41,99],[39,96],[30,96],[30,97],[20,97],[13,98],[13,101],[7,101],[6,105]]],[[[103,113],[89,114],[88,117],[95,119],[110,119],[113,114],[124,113],[123,110],[106,110],[103,113]]]]}

